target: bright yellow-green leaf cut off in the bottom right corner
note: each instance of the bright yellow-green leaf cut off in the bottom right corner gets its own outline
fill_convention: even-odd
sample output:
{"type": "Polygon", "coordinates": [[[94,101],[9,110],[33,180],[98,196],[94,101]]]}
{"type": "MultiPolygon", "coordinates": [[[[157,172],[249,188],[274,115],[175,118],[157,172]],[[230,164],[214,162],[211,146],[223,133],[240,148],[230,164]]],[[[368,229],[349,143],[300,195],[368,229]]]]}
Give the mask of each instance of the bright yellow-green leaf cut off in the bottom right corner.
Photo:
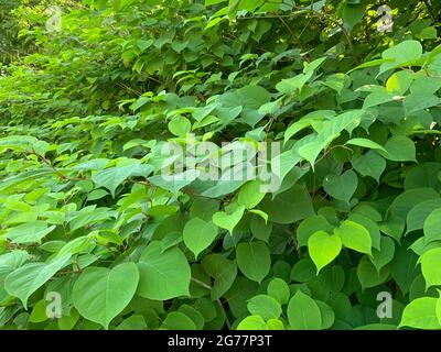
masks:
{"type": "Polygon", "coordinates": [[[406,306],[399,327],[409,327],[424,330],[440,330],[437,318],[437,302],[439,298],[423,297],[412,300],[406,306]]]}

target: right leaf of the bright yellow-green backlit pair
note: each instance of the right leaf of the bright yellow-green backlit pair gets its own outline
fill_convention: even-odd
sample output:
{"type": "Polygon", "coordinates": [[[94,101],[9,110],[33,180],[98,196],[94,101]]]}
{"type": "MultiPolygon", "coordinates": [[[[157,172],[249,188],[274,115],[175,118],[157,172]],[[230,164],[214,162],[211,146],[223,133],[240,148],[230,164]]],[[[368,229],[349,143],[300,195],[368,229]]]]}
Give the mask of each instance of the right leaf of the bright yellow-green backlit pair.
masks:
{"type": "Polygon", "coordinates": [[[372,238],[363,226],[345,220],[334,232],[342,239],[344,246],[359,253],[372,254],[372,238]]]}

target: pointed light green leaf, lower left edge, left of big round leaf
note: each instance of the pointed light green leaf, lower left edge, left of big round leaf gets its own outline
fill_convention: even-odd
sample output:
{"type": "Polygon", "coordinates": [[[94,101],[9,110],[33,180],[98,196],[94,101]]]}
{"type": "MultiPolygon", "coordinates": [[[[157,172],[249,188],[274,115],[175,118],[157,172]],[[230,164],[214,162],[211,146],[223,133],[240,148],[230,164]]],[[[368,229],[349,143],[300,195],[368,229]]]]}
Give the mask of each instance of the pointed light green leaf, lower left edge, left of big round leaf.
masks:
{"type": "Polygon", "coordinates": [[[4,288],[11,296],[20,298],[26,307],[28,298],[63,268],[69,258],[60,256],[49,263],[25,264],[6,277],[4,288]]]}

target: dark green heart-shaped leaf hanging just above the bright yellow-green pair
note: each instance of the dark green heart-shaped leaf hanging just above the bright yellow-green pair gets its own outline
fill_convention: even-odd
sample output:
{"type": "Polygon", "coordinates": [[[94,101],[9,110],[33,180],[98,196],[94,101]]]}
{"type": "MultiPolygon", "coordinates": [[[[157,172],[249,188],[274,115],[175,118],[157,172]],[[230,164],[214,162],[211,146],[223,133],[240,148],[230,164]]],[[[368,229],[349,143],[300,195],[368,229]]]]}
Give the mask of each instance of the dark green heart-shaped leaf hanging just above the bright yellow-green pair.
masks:
{"type": "Polygon", "coordinates": [[[323,180],[324,190],[333,198],[348,202],[358,186],[358,177],[348,169],[341,176],[329,175],[323,180]]]}

